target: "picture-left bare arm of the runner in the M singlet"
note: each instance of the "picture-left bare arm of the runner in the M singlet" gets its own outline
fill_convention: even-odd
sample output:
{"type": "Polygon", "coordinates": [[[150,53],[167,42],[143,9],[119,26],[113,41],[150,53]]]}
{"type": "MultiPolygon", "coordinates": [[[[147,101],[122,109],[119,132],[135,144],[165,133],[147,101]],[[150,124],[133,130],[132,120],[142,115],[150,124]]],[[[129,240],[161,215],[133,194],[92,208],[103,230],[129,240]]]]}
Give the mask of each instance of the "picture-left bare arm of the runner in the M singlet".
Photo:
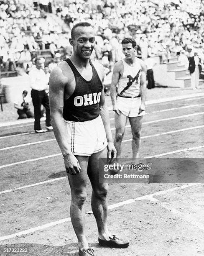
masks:
{"type": "Polygon", "coordinates": [[[115,111],[115,113],[117,115],[120,115],[119,110],[117,108],[117,83],[119,81],[119,77],[120,77],[120,62],[117,62],[114,67],[113,67],[113,74],[112,74],[112,82],[110,85],[110,97],[112,100],[112,108],[113,111],[115,111]]]}

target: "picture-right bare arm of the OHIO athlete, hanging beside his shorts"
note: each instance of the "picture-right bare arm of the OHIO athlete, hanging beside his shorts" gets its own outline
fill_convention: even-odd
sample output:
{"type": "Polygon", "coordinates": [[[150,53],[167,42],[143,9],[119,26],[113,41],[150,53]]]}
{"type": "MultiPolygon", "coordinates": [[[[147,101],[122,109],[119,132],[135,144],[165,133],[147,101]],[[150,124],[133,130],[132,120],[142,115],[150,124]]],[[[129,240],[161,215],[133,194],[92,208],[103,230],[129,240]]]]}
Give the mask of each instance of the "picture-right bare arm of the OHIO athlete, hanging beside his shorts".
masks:
{"type": "MultiPolygon", "coordinates": [[[[103,79],[104,79],[104,71],[103,71],[103,79]]],[[[105,103],[105,93],[104,90],[102,90],[101,93],[101,99],[99,102],[99,110],[100,110],[100,115],[103,121],[103,125],[105,128],[106,132],[106,138],[107,138],[107,149],[108,149],[108,158],[115,158],[116,157],[116,149],[115,146],[113,145],[113,140],[112,140],[112,133],[110,129],[110,117],[109,117],[109,112],[107,109],[107,105],[105,103]]]]}

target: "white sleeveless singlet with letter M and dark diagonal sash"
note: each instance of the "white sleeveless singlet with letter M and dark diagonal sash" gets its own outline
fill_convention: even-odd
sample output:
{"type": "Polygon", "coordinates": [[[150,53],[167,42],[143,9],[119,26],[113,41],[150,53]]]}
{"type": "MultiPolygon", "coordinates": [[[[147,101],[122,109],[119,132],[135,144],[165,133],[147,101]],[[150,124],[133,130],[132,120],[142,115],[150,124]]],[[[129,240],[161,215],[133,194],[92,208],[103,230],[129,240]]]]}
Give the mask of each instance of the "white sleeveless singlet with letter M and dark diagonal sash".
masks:
{"type": "Polygon", "coordinates": [[[124,59],[122,59],[124,72],[118,81],[117,93],[126,97],[137,97],[140,95],[140,76],[141,65],[138,61],[133,67],[129,66],[124,59]],[[128,87],[125,89],[125,87],[128,87]]]}

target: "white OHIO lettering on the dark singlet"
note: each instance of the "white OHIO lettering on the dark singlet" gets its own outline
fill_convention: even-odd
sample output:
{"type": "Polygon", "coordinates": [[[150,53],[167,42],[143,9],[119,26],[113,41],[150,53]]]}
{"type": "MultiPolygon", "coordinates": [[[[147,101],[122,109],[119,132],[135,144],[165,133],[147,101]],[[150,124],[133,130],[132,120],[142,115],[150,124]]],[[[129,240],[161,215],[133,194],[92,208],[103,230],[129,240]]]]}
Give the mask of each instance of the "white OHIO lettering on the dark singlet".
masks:
{"type": "Polygon", "coordinates": [[[89,94],[84,94],[83,96],[76,96],[74,98],[74,105],[76,107],[81,107],[82,105],[88,106],[97,104],[100,102],[101,92],[94,92],[89,94]]]}

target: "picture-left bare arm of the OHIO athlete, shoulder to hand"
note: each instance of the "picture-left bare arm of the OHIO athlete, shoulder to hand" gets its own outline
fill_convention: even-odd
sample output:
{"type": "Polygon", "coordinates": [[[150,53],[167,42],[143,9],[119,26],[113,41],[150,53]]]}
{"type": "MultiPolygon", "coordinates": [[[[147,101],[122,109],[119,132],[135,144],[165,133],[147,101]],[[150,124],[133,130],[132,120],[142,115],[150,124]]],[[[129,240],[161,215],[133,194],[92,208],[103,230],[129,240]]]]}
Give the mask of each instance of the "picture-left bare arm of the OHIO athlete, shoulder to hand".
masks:
{"type": "Polygon", "coordinates": [[[67,84],[67,78],[64,77],[62,70],[57,67],[50,75],[49,79],[49,100],[50,100],[50,113],[51,121],[56,137],[57,143],[64,156],[64,164],[66,172],[69,174],[79,173],[80,165],[76,157],[71,153],[71,148],[68,144],[68,132],[66,124],[62,117],[63,105],[64,105],[64,88],[67,84]]]}

